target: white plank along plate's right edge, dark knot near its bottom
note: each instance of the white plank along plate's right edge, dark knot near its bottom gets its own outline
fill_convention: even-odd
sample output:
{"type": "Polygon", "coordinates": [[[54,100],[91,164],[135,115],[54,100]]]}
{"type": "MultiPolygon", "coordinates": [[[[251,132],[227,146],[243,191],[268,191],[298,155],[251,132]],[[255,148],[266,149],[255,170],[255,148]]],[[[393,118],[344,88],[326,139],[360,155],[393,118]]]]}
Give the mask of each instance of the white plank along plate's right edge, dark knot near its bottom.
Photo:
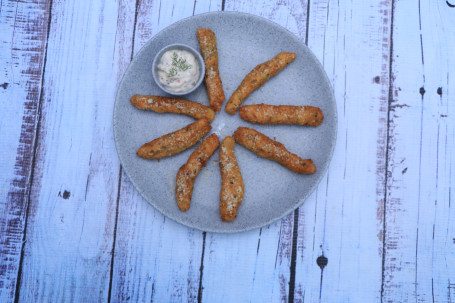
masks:
{"type": "Polygon", "coordinates": [[[310,2],[308,46],[339,128],[328,174],[300,208],[297,302],[380,301],[390,16],[390,1],[310,2]]]}

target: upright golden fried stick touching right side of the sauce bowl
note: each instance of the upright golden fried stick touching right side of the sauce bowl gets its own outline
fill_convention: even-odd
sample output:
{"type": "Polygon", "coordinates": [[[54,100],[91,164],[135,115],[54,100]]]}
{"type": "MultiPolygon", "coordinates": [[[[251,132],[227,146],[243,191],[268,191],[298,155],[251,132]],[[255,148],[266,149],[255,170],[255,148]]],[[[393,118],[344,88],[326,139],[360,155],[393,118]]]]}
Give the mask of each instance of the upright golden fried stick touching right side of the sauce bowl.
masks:
{"type": "Polygon", "coordinates": [[[209,96],[210,107],[219,112],[224,102],[223,83],[218,69],[218,50],[215,33],[209,28],[198,28],[197,39],[205,63],[205,86],[209,96]]]}

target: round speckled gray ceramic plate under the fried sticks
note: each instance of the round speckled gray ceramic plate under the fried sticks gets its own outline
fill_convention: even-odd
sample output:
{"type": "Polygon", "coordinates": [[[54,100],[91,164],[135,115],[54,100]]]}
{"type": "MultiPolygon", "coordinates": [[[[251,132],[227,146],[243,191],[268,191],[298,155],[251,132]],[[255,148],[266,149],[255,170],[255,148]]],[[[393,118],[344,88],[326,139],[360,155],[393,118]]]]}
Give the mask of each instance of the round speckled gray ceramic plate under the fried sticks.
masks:
{"type": "MultiPolygon", "coordinates": [[[[208,105],[201,85],[189,100],[208,105]]],[[[223,104],[224,105],[224,104],[223,104]]],[[[213,232],[239,232],[258,228],[282,218],[299,207],[326,173],[335,146],[336,104],[328,78],[311,51],[292,33],[253,15],[217,12],[181,20],[155,35],[136,55],[117,92],[114,108],[114,136],[120,162],[142,196],[165,216],[184,225],[213,232]],[[199,50],[196,30],[211,28],[216,36],[220,73],[228,99],[244,76],[257,64],[281,51],[297,53],[297,58],[280,74],[250,95],[244,104],[291,104],[317,106],[324,112],[318,127],[255,125],[230,116],[223,109],[212,123],[220,140],[238,126],[257,129],[282,142],[303,158],[312,158],[318,171],[296,174],[275,162],[262,159],[242,146],[235,153],[245,182],[245,197],[234,222],[219,216],[221,177],[218,151],[201,171],[194,186],[191,208],[181,212],[175,202],[175,176],[195,147],[170,158],[145,160],[136,156],[145,142],[180,129],[193,119],[175,114],[158,114],[135,108],[134,94],[165,95],[153,81],[152,62],[164,46],[184,43],[199,50]]]]}

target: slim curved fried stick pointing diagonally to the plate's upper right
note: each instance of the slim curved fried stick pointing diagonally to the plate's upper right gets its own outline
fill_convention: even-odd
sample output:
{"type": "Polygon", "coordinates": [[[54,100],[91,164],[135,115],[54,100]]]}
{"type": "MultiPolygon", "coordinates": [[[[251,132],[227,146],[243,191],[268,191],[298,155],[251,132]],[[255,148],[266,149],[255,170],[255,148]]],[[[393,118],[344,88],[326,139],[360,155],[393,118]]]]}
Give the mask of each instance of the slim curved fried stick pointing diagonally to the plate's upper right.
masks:
{"type": "Polygon", "coordinates": [[[275,56],[275,58],[257,65],[245,79],[243,79],[240,86],[232,94],[229,101],[226,103],[226,112],[233,115],[237,109],[242,105],[245,100],[255,89],[262,86],[267,80],[278,74],[283,68],[291,63],[297,55],[295,53],[282,52],[275,56]]]}

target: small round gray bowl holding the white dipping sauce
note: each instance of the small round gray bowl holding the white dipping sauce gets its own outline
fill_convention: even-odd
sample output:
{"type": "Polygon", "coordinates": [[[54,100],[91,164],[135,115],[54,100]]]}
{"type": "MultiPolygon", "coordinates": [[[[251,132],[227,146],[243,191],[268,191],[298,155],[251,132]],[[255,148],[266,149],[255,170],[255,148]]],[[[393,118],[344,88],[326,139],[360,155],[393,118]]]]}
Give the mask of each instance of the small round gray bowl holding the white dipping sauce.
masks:
{"type": "Polygon", "coordinates": [[[165,91],[166,93],[168,93],[170,95],[182,96],[182,95],[186,95],[186,94],[193,92],[196,88],[198,88],[201,85],[202,80],[204,80],[204,75],[205,75],[205,64],[204,64],[204,59],[202,59],[201,54],[199,54],[199,52],[196,51],[194,48],[192,48],[188,45],[185,45],[185,44],[177,43],[177,44],[168,45],[168,46],[164,47],[163,49],[161,49],[158,52],[158,54],[156,54],[155,59],[153,59],[153,79],[155,80],[155,83],[156,83],[156,85],[158,85],[159,88],[161,88],[163,91],[165,91]],[[164,87],[164,85],[162,85],[160,82],[160,79],[158,77],[158,64],[159,64],[163,54],[165,52],[167,52],[168,50],[172,50],[172,49],[185,50],[185,51],[190,52],[196,58],[196,61],[199,65],[199,79],[197,80],[196,84],[189,90],[186,90],[183,92],[173,92],[171,90],[168,90],[166,87],[164,87]]]}

